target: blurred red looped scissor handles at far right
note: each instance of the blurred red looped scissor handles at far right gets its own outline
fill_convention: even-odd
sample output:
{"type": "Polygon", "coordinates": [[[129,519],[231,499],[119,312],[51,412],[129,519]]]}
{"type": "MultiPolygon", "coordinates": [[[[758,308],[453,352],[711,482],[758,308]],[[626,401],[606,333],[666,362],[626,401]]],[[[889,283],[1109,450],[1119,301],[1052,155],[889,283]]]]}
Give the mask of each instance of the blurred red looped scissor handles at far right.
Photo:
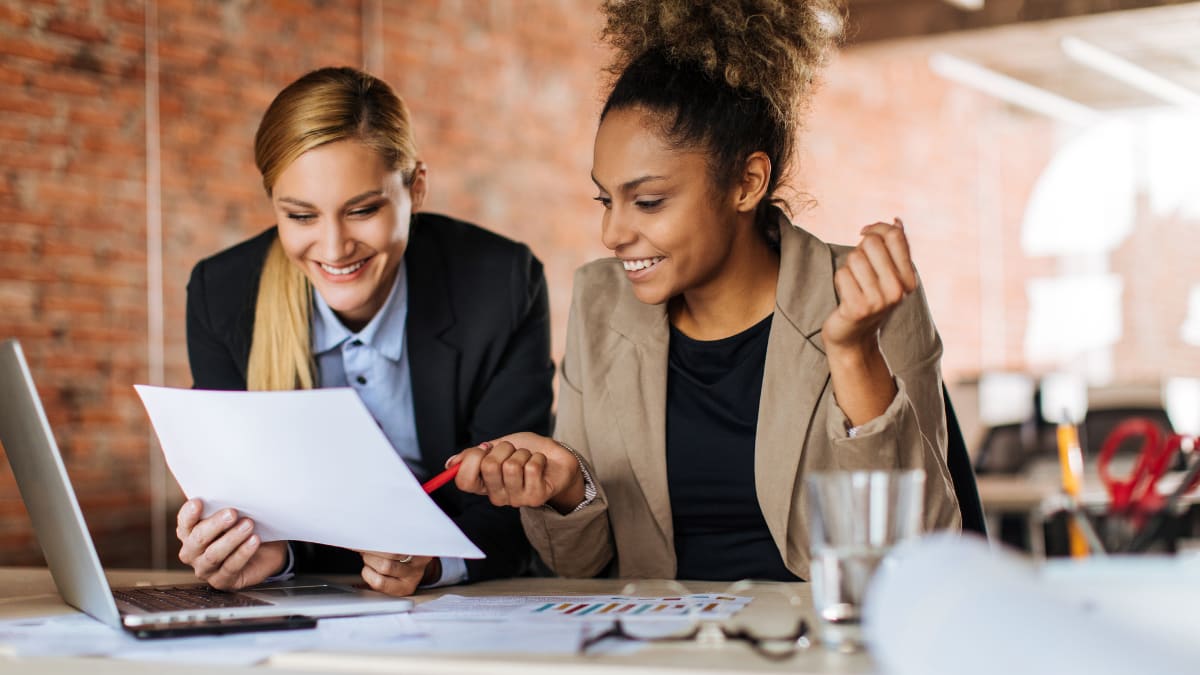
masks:
{"type": "Polygon", "coordinates": [[[1157,423],[1144,417],[1122,420],[1104,440],[1097,468],[1100,480],[1112,498],[1114,512],[1132,512],[1145,515],[1162,507],[1163,497],[1158,494],[1158,479],[1166,473],[1171,458],[1180,450],[1183,437],[1177,434],[1165,434],[1157,423]],[[1141,450],[1134,461],[1133,470],[1124,479],[1115,478],[1109,472],[1112,455],[1129,438],[1142,438],[1141,450]]]}

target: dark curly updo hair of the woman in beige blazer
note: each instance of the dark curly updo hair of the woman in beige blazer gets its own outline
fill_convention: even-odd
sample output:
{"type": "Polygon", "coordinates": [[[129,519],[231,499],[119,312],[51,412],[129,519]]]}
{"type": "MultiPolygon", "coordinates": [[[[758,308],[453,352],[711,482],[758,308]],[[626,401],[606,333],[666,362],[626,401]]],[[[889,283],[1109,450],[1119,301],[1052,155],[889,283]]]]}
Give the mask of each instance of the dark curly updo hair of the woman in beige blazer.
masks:
{"type": "Polygon", "coordinates": [[[601,40],[616,77],[600,114],[641,108],[672,147],[704,148],[732,187],[752,153],[770,159],[755,222],[778,243],[781,199],[817,71],[841,37],[836,0],[606,0],[601,40]]]}

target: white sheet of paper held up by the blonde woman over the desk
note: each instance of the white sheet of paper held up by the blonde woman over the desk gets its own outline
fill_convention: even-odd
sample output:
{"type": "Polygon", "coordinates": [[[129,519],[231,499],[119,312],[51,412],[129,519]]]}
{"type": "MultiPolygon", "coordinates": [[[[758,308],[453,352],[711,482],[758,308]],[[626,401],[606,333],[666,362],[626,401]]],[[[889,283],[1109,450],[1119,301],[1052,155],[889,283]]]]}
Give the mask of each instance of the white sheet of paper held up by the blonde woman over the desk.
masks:
{"type": "Polygon", "coordinates": [[[265,542],[484,557],[425,494],[353,389],[134,388],[167,466],[188,498],[204,500],[205,515],[233,507],[265,542]]]}

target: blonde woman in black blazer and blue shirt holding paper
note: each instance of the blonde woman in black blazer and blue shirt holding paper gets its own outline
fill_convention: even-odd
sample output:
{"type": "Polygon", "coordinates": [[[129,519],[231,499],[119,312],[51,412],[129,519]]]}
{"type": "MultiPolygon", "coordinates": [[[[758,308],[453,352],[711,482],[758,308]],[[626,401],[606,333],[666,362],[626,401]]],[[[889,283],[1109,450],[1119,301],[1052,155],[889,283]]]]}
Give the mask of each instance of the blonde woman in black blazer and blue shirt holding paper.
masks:
{"type": "MultiPolygon", "coordinates": [[[[458,448],[548,431],[541,263],[524,245],[420,213],[428,169],[388,84],[353,68],[301,77],[263,115],[254,160],[276,226],[192,271],[187,348],[197,388],[353,387],[419,479],[458,448]]],[[[217,589],[292,572],[360,572],[372,589],[401,596],[524,568],[516,512],[456,490],[436,498],[486,560],[264,543],[234,509],[202,519],[199,500],[179,512],[179,557],[217,589]]]]}

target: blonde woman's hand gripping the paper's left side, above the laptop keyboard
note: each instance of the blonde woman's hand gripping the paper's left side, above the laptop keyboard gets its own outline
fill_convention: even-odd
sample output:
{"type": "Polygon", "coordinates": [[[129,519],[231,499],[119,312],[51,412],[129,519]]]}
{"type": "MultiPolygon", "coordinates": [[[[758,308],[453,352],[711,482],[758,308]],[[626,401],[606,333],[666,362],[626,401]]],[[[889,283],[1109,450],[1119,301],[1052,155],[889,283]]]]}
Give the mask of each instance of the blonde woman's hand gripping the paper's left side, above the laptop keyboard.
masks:
{"type": "Polygon", "coordinates": [[[202,581],[222,591],[262,584],[283,571],[287,542],[262,543],[254,521],[238,518],[232,508],[200,518],[204,503],[188,500],[179,509],[175,536],[182,544],[179,560],[196,571],[202,581]]]}

